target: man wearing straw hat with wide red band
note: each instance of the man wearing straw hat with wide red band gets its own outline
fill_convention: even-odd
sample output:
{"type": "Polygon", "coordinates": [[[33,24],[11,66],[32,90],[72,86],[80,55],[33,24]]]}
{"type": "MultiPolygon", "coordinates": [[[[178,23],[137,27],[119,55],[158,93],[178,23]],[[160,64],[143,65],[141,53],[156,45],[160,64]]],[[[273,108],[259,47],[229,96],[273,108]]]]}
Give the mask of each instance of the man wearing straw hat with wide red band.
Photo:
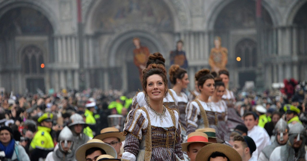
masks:
{"type": "Polygon", "coordinates": [[[187,152],[188,158],[191,161],[195,161],[197,152],[205,145],[211,144],[208,142],[207,134],[203,132],[192,132],[188,134],[188,140],[186,143],[182,143],[182,151],[187,152]]]}

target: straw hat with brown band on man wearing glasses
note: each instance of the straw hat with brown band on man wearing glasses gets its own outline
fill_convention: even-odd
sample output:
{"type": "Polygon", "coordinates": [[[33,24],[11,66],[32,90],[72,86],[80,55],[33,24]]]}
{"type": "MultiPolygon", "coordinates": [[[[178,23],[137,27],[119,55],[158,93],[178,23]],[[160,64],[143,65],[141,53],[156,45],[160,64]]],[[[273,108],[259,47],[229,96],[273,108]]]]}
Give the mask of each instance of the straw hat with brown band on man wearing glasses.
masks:
{"type": "Polygon", "coordinates": [[[108,137],[117,137],[119,138],[120,141],[124,141],[125,140],[125,136],[122,136],[120,134],[120,131],[115,128],[115,127],[107,127],[107,128],[104,128],[100,131],[100,134],[96,135],[94,137],[94,139],[99,139],[99,140],[103,140],[105,138],[108,138],[108,137]]]}

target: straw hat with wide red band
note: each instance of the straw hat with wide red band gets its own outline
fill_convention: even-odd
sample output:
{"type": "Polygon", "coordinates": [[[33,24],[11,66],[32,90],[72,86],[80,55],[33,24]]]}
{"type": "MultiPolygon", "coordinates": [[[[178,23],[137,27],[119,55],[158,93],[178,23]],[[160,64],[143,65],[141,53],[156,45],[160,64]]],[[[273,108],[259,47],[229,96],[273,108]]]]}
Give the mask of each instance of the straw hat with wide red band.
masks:
{"type": "Polygon", "coordinates": [[[182,143],[182,151],[187,152],[188,151],[188,145],[192,143],[205,143],[206,145],[212,144],[208,142],[208,136],[205,133],[202,132],[192,132],[188,134],[188,140],[186,143],[182,143]]]}

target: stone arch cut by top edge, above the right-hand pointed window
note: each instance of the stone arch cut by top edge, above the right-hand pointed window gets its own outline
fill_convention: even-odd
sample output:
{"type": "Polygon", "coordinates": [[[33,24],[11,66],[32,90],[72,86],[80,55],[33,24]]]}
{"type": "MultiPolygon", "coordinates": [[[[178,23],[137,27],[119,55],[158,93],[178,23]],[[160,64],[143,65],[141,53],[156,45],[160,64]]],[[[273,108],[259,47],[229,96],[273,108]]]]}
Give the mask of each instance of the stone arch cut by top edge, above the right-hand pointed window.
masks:
{"type": "MultiPolygon", "coordinates": [[[[222,11],[222,9],[224,7],[226,7],[228,4],[230,4],[231,2],[233,2],[235,0],[229,0],[229,1],[215,1],[213,5],[213,9],[210,10],[210,12],[208,13],[208,19],[207,21],[204,22],[204,26],[205,28],[207,28],[209,31],[212,31],[214,29],[214,25],[216,22],[216,18],[219,16],[220,12],[222,11]]],[[[278,10],[276,9],[276,7],[273,7],[272,4],[270,4],[270,2],[267,2],[267,0],[263,0],[262,1],[262,6],[264,7],[264,9],[266,9],[266,11],[269,13],[273,26],[278,26],[281,18],[280,13],[278,12],[278,10]]]]}

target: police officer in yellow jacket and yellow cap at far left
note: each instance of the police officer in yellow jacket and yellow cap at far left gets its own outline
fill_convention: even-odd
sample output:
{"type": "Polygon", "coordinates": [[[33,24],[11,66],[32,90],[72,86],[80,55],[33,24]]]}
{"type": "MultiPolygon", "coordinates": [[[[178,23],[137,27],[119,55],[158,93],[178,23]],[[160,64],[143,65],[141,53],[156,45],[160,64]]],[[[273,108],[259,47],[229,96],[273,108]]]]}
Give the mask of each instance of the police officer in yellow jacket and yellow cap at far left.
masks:
{"type": "Polygon", "coordinates": [[[37,132],[30,144],[31,161],[38,161],[39,158],[46,158],[54,148],[53,140],[50,135],[52,128],[52,113],[44,113],[37,119],[41,126],[37,126],[37,132]]]}

